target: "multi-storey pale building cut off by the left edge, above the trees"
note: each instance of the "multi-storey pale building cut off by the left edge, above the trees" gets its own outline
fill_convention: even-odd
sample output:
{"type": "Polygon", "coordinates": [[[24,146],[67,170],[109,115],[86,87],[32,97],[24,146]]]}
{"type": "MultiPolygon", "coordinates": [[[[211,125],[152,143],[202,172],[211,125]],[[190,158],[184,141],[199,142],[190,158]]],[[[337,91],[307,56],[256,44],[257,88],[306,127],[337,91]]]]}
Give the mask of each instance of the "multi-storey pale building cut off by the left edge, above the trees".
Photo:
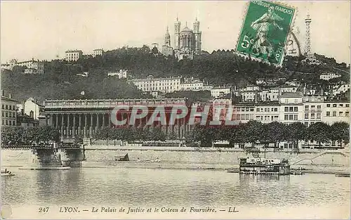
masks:
{"type": "Polygon", "coordinates": [[[18,101],[11,94],[5,96],[4,90],[1,90],[1,126],[17,126],[17,105],[18,101]]]}

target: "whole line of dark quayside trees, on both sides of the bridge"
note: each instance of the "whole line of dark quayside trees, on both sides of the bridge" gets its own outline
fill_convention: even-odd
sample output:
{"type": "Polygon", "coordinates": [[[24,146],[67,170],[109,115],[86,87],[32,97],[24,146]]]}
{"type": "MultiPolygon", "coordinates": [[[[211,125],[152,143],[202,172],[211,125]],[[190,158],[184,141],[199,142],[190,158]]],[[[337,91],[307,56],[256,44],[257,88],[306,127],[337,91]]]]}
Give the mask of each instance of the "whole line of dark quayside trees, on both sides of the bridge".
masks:
{"type": "MultiPolygon", "coordinates": [[[[98,140],[122,140],[122,141],[166,141],[180,139],[187,144],[200,142],[201,146],[211,146],[214,141],[229,141],[230,146],[241,143],[251,143],[252,147],[258,143],[274,143],[289,141],[298,144],[298,141],[317,141],[319,147],[322,143],[338,141],[349,143],[350,126],[346,122],[336,122],[332,125],[324,122],[316,122],[306,127],[300,122],[282,124],[271,122],[263,124],[258,121],[250,121],[237,126],[208,127],[195,125],[187,134],[185,140],[178,137],[174,132],[165,134],[160,127],[152,129],[134,127],[104,127],[95,132],[93,138],[98,140]]],[[[51,127],[34,127],[23,129],[22,127],[3,127],[1,141],[4,145],[28,145],[32,142],[59,141],[59,131],[51,127]]]]}

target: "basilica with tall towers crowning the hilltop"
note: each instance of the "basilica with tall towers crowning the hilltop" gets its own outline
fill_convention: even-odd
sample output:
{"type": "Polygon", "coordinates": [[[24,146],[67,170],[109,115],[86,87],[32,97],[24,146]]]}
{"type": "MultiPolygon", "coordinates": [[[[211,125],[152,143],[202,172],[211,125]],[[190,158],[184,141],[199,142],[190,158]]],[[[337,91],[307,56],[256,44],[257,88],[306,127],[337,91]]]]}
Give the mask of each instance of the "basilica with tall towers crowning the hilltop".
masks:
{"type": "Polygon", "coordinates": [[[201,54],[201,31],[199,27],[200,22],[196,18],[193,23],[193,30],[187,27],[187,22],[183,30],[181,30],[181,23],[177,18],[174,24],[174,45],[173,47],[171,46],[171,34],[169,34],[167,27],[161,53],[164,56],[174,55],[178,60],[184,58],[192,59],[194,55],[201,54]]]}

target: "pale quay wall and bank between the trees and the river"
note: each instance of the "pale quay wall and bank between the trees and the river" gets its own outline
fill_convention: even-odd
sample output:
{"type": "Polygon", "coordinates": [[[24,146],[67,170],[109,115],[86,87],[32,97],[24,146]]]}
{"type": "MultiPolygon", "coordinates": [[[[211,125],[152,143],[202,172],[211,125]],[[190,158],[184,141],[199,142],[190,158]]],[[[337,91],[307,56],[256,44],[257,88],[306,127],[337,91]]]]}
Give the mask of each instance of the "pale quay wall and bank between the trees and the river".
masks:
{"type": "MultiPolygon", "coordinates": [[[[106,148],[106,146],[102,146],[106,148]]],[[[239,158],[249,157],[241,149],[206,150],[160,149],[160,147],[147,147],[147,149],[116,148],[102,150],[101,148],[87,148],[86,161],[82,167],[86,168],[144,168],[144,169],[213,169],[223,170],[239,169],[239,158]],[[117,162],[115,156],[124,156],[128,153],[131,161],[117,162]],[[159,161],[159,162],[156,162],[159,161]]],[[[305,150],[303,153],[273,152],[267,150],[267,158],[287,159],[291,169],[303,169],[303,173],[336,174],[350,173],[350,153],[343,150],[322,151],[305,150]]],[[[264,157],[260,153],[260,157],[264,157]]],[[[22,166],[32,164],[31,150],[1,150],[3,167],[22,166]]]]}

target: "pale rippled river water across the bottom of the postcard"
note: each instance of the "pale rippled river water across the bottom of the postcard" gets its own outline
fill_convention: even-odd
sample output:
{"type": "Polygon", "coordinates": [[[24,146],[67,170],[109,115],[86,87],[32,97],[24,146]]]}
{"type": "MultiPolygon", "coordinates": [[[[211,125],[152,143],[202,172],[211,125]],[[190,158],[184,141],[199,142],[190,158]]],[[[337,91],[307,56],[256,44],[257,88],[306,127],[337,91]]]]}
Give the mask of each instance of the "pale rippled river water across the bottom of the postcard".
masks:
{"type": "MultiPolygon", "coordinates": [[[[3,204],[18,210],[17,214],[21,207],[28,206],[34,209],[52,207],[51,214],[56,216],[59,211],[53,209],[63,205],[88,209],[113,205],[116,208],[215,207],[217,210],[225,209],[226,213],[229,207],[236,207],[241,210],[241,214],[246,213],[246,217],[252,217],[249,210],[253,209],[260,209],[262,213],[277,212],[274,216],[279,217],[286,216],[282,211],[286,209],[291,216],[296,216],[297,211],[293,211],[296,208],[302,216],[311,213],[316,214],[310,217],[349,216],[350,178],[333,174],[278,178],[239,175],[220,170],[81,167],[39,171],[10,168],[15,176],[1,178],[1,200],[3,204]]],[[[220,214],[216,216],[223,217],[220,214]]],[[[69,217],[75,218],[72,215],[69,217]]],[[[137,216],[130,216],[133,217],[137,216]]]]}

